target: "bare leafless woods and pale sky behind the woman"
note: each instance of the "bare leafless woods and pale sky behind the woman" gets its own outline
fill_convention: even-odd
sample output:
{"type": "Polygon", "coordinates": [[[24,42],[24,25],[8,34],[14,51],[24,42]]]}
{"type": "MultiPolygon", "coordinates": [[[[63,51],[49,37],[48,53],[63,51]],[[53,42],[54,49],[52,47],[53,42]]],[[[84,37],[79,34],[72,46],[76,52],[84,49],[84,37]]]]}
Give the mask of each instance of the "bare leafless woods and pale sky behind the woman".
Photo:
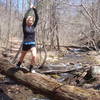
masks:
{"type": "MultiPolygon", "coordinates": [[[[22,20],[30,1],[0,0],[0,46],[10,48],[16,38],[22,41],[22,20]]],[[[38,42],[44,41],[51,47],[57,44],[99,47],[100,0],[76,1],[35,1],[39,14],[38,42]]]]}

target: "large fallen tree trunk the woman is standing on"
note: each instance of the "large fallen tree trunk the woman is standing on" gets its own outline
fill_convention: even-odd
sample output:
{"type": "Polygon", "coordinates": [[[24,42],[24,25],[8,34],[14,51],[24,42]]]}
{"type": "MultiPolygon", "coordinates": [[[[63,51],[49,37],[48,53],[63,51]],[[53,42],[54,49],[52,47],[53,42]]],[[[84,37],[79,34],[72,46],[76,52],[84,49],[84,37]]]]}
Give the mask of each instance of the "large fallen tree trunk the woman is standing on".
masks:
{"type": "Polygon", "coordinates": [[[16,70],[14,65],[6,59],[0,59],[0,70],[1,73],[37,90],[38,93],[51,97],[53,100],[100,100],[100,92],[98,91],[63,85],[44,74],[16,70]]]}

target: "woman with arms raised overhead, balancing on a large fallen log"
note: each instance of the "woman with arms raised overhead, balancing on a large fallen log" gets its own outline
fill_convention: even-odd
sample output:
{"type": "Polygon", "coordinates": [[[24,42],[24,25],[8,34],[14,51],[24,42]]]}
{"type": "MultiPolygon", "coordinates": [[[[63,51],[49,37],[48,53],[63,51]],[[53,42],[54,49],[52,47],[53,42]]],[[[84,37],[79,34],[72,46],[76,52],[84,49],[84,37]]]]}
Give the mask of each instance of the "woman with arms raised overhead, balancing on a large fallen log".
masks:
{"type": "Polygon", "coordinates": [[[33,69],[33,65],[36,62],[36,42],[35,42],[35,31],[34,29],[37,26],[38,22],[38,14],[36,8],[31,4],[29,10],[25,13],[25,16],[23,18],[23,44],[22,44],[22,51],[21,56],[19,58],[18,63],[16,64],[16,68],[20,68],[21,64],[23,62],[23,59],[28,51],[31,51],[32,53],[32,60],[29,66],[30,72],[35,72],[33,69]]]}

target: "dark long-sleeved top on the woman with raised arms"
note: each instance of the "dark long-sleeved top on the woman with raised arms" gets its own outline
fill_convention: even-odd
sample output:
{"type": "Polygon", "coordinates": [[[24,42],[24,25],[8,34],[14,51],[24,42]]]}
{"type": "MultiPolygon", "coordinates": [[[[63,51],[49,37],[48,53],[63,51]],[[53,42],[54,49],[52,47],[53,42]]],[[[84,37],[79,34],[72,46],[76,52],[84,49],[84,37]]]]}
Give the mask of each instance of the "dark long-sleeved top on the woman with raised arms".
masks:
{"type": "Polygon", "coordinates": [[[37,22],[38,22],[38,14],[37,14],[37,10],[35,8],[30,8],[25,16],[24,16],[24,19],[23,19],[23,34],[24,34],[24,40],[23,42],[34,42],[35,41],[35,31],[34,31],[34,28],[36,27],[37,25],[37,22]],[[26,25],[26,19],[27,17],[29,16],[29,13],[34,13],[35,14],[35,21],[33,23],[32,26],[28,26],[26,25]]]}

